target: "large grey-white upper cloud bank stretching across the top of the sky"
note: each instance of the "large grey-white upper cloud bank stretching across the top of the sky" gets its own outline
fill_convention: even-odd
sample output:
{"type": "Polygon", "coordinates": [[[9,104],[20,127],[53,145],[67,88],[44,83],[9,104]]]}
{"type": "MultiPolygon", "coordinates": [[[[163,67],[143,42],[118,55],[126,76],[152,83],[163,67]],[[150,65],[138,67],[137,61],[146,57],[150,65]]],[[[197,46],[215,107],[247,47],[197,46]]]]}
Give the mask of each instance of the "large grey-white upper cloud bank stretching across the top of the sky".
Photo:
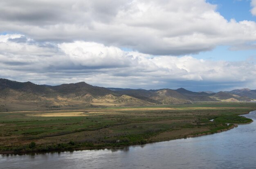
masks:
{"type": "Polygon", "coordinates": [[[227,21],[205,0],[9,0],[0,1],[0,11],[0,32],[41,42],[85,41],[185,55],[256,41],[255,22],[227,21]]]}

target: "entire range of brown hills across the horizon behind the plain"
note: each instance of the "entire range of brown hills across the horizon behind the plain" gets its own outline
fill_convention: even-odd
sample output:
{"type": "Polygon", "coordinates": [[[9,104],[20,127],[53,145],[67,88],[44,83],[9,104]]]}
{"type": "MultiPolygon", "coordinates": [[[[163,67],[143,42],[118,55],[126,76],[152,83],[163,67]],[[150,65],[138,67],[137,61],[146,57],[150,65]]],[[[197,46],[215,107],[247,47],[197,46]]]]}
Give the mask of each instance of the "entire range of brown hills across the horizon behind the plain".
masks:
{"type": "Polygon", "coordinates": [[[43,110],[108,106],[190,104],[195,101],[254,101],[256,90],[247,88],[225,92],[103,88],[85,82],[58,86],[37,85],[0,79],[0,111],[43,110]]]}

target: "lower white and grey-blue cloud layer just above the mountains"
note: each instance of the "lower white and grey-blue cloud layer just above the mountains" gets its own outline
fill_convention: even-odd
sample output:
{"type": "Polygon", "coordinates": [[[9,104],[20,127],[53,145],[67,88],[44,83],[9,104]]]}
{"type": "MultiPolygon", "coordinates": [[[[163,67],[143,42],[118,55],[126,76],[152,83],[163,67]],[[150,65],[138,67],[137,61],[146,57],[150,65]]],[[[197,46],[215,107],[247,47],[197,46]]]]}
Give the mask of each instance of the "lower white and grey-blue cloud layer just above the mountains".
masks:
{"type": "Polygon", "coordinates": [[[256,84],[253,60],[231,62],[195,59],[189,55],[152,56],[96,42],[52,46],[31,39],[13,41],[20,37],[25,36],[0,35],[3,78],[39,84],[85,81],[105,87],[147,89],[182,86],[195,89],[202,85],[208,89],[225,85],[254,88],[256,84]]]}

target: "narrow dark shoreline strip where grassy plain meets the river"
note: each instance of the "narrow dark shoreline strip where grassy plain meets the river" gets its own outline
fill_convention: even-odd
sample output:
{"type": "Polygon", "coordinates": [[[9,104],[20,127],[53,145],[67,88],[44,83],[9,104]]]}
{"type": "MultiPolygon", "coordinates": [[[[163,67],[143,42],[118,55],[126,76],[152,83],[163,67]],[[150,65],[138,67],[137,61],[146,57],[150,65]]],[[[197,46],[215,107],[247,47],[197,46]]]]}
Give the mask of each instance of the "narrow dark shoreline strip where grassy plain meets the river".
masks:
{"type": "MultiPolygon", "coordinates": [[[[250,112],[253,112],[256,110],[252,110],[250,112]]],[[[250,112],[247,113],[243,113],[243,114],[239,114],[237,116],[241,116],[244,114],[249,114],[250,112]]],[[[252,119],[251,119],[252,120],[252,119]]],[[[117,149],[117,148],[126,148],[126,147],[130,147],[130,146],[136,146],[136,145],[146,145],[146,144],[152,144],[152,143],[159,143],[159,142],[165,142],[165,141],[171,141],[171,140],[177,140],[177,139],[186,139],[186,138],[193,138],[193,137],[199,137],[199,136],[206,136],[209,134],[216,134],[216,133],[220,133],[220,132],[225,132],[228,131],[230,129],[234,129],[235,127],[238,127],[238,125],[246,125],[246,124],[250,124],[254,122],[253,120],[248,122],[248,123],[232,123],[233,125],[231,125],[230,127],[226,128],[226,129],[221,129],[218,130],[217,132],[207,132],[207,133],[202,133],[202,134],[191,134],[188,136],[183,136],[180,138],[175,138],[175,139],[170,139],[170,140],[159,140],[159,141],[152,141],[152,142],[147,142],[145,144],[127,144],[127,145],[121,145],[121,146],[95,146],[95,147],[77,147],[77,148],[68,148],[68,149],[56,149],[56,150],[49,150],[49,151],[24,151],[24,152],[15,152],[15,151],[2,151],[0,152],[1,155],[5,155],[5,156],[9,156],[9,155],[26,155],[26,154],[40,154],[40,153],[52,153],[52,152],[65,152],[65,151],[82,151],[82,150],[100,150],[100,149],[117,149]]]]}

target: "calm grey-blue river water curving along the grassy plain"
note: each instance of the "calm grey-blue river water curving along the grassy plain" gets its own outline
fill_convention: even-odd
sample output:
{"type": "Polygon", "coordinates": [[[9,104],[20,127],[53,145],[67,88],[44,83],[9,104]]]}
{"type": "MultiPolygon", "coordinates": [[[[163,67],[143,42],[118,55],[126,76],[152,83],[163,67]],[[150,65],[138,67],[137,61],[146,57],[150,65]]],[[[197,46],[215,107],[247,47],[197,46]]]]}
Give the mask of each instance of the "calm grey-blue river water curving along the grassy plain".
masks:
{"type": "Polygon", "coordinates": [[[226,132],[124,149],[0,156],[1,169],[253,169],[254,122],[226,132]]]}

